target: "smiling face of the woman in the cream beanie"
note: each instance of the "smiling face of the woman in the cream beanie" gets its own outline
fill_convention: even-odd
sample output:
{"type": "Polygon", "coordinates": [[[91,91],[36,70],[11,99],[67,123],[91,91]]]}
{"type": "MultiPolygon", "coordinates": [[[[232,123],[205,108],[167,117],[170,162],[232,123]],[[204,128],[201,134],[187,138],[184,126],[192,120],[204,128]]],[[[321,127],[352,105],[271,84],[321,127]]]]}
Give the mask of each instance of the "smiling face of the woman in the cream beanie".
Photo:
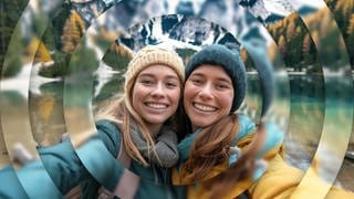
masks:
{"type": "Polygon", "coordinates": [[[177,73],[169,66],[154,64],[136,77],[132,92],[134,109],[150,128],[158,129],[175,114],[181,84],[177,73]]]}

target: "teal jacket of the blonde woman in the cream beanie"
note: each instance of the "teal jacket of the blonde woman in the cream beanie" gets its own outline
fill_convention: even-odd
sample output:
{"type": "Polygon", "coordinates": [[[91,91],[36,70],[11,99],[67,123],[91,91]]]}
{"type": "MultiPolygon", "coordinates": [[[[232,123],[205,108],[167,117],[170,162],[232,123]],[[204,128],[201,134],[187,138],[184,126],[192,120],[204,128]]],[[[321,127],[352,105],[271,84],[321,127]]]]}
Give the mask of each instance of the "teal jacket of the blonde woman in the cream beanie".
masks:
{"type": "MultiPolygon", "coordinates": [[[[39,148],[45,170],[63,195],[80,185],[82,198],[97,198],[101,185],[112,191],[119,181],[124,166],[115,157],[121,147],[121,133],[114,124],[107,121],[100,121],[96,124],[96,128],[97,134],[80,146],[76,151],[69,140],[54,146],[39,148]]],[[[37,161],[22,167],[18,171],[20,178],[25,179],[21,180],[21,182],[22,186],[25,184],[25,190],[30,190],[30,196],[39,196],[41,198],[44,197],[43,193],[56,196],[58,190],[45,186],[52,182],[44,178],[41,179],[41,175],[37,175],[35,181],[33,181],[33,176],[31,175],[33,170],[45,172],[37,161]]],[[[170,186],[170,169],[157,166],[144,167],[132,160],[131,170],[140,176],[135,198],[185,198],[183,187],[170,186]]],[[[15,177],[14,175],[9,175],[11,171],[13,172],[9,168],[0,171],[0,177],[9,179],[7,186],[1,186],[0,196],[15,195],[15,190],[9,192],[7,187],[11,187],[13,190],[13,186],[20,186],[18,179],[10,179],[11,176],[15,177]]],[[[21,187],[18,190],[22,190],[21,187]]],[[[18,198],[17,196],[11,197],[18,198]]]]}

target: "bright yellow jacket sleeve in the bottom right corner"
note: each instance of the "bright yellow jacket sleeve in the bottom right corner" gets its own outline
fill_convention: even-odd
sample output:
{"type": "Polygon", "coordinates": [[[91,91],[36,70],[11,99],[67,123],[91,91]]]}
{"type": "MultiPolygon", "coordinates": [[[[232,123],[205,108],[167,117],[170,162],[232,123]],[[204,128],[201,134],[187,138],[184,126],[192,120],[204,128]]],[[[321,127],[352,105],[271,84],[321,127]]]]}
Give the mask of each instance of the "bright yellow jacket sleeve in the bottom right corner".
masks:
{"type": "MultiPolygon", "coordinates": [[[[315,171],[310,168],[309,181],[302,181],[304,172],[295,167],[289,166],[281,156],[277,156],[268,167],[263,176],[249,189],[252,198],[317,198],[319,193],[326,192],[329,186],[315,171]]],[[[335,186],[331,187],[325,198],[353,199],[354,193],[345,191],[335,186]]]]}

